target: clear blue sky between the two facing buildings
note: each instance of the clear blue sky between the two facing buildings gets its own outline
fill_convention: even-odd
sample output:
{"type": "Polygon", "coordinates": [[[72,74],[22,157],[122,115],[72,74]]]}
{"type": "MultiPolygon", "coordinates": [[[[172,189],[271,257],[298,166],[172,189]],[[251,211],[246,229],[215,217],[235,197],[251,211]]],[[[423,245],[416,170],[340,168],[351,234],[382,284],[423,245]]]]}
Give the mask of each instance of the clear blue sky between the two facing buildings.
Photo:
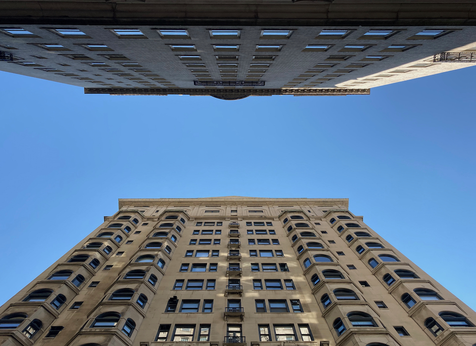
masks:
{"type": "Polygon", "coordinates": [[[84,95],[0,72],[0,304],[118,198],[350,198],[476,309],[476,67],[370,96],[84,95]],[[47,249],[39,251],[38,249],[47,249]]]}

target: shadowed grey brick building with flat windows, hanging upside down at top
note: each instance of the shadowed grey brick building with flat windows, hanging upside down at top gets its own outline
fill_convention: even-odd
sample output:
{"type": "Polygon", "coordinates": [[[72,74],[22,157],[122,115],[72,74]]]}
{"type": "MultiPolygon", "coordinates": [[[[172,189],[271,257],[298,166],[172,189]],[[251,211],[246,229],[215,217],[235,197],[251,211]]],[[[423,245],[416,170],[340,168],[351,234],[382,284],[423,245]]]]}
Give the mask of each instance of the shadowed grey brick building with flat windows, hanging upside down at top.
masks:
{"type": "Polygon", "coordinates": [[[476,0],[0,1],[0,70],[114,95],[365,95],[476,64],[476,0]]]}

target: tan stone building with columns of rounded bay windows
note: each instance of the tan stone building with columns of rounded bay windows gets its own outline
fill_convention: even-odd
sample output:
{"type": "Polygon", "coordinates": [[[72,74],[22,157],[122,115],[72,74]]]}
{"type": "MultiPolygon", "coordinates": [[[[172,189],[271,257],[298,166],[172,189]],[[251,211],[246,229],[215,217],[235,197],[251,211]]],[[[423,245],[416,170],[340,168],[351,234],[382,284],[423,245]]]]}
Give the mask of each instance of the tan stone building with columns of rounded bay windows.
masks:
{"type": "Polygon", "coordinates": [[[474,346],[348,199],[119,199],[0,308],[2,346],[474,346]]]}

